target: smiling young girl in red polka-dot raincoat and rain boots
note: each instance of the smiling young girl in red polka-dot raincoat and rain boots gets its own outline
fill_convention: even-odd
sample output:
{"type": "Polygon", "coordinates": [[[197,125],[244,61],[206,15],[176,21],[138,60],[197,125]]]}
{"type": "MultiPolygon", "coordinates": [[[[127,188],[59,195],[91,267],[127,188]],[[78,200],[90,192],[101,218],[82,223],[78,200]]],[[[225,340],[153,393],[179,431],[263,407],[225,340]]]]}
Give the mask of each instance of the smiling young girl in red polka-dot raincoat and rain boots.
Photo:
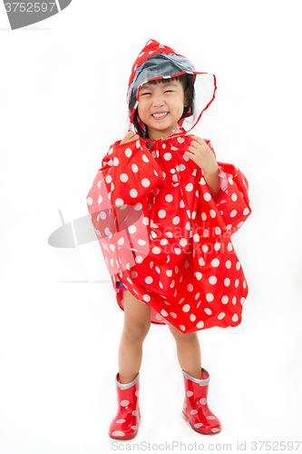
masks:
{"type": "Polygon", "coordinates": [[[124,311],[109,435],[138,431],[142,342],[167,324],[185,385],[182,413],[192,429],[215,434],[209,373],[196,331],[237,326],[248,286],[231,235],[248,218],[248,182],[218,163],[208,140],[188,132],[213,101],[216,79],[150,40],[132,66],[130,131],[102,160],[87,196],[94,230],[124,311]]]}

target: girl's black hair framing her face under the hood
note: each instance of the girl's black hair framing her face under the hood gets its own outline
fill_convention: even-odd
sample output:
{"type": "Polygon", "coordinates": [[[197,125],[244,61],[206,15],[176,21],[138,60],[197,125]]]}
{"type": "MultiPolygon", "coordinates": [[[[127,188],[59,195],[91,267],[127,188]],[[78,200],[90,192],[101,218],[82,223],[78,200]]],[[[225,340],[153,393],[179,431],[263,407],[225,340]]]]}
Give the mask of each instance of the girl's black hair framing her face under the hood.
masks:
{"type": "MultiPolygon", "coordinates": [[[[194,78],[195,76],[193,76],[192,74],[180,74],[180,75],[177,75],[175,77],[171,77],[171,79],[173,80],[178,80],[180,81],[180,83],[182,84],[182,87],[183,87],[183,92],[185,94],[185,96],[187,97],[187,107],[184,107],[183,108],[183,112],[182,112],[182,115],[180,117],[180,120],[182,120],[182,118],[185,118],[186,116],[190,116],[193,114],[193,109],[194,109],[194,95],[195,95],[195,90],[194,90],[194,78]]],[[[148,81],[148,84],[161,84],[161,83],[164,83],[164,82],[167,82],[167,79],[155,79],[155,80],[151,80],[151,81],[148,81]]],[[[136,98],[134,99],[132,97],[132,99],[130,100],[130,103],[129,103],[129,108],[130,108],[130,112],[132,112],[132,109],[133,109],[133,106],[136,102],[136,98]]],[[[179,121],[180,121],[179,120],[179,121]]],[[[148,139],[148,129],[146,127],[146,132],[144,132],[142,129],[141,129],[141,126],[140,126],[140,123],[139,123],[139,120],[138,120],[138,116],[137,116],[137,109],[136,111],[134,112],[134,115],[133,115],[133,124],[134,124],[134,127],[137,131],[137,133],[141,136],[141,138],[143,139],[148,139]]]]}

